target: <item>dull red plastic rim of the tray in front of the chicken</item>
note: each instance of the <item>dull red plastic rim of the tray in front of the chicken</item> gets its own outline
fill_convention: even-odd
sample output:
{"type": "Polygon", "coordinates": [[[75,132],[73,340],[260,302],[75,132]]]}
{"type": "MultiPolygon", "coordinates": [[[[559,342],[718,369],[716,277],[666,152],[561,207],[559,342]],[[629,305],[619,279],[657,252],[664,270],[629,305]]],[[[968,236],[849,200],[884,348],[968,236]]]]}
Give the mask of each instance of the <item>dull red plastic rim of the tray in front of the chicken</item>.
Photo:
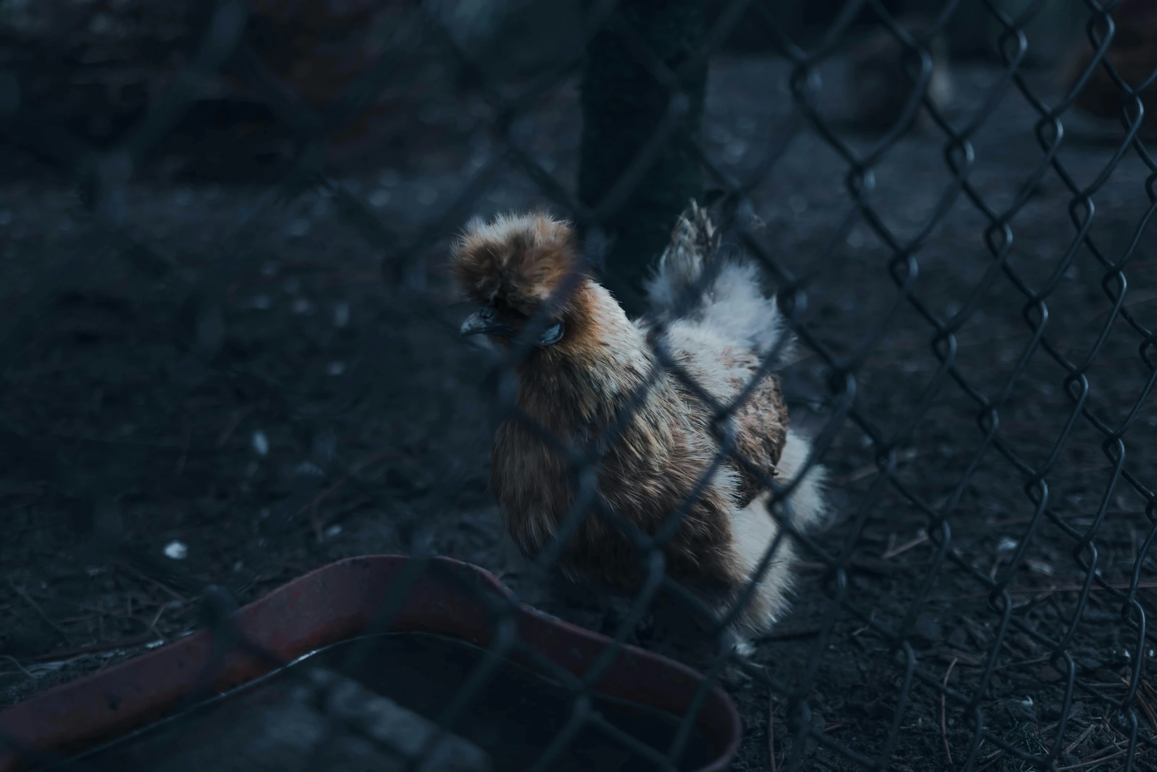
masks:
{"type": "MultiPolygon", "coordinates": [[[[318,568],[242,608],[237,626],[248,640],[287,661],[346,640],[373,624],[391,584],[411,560],[367,556],[318,568]]],[[[449,558],[430,560],[495,595],[510,597],[498,578],[482,568],[449,558]]],[[[610,640],[525,605],[519,608],[516,624],[528,647],[580,677],[610,640]]],[[[488,646],[492,638],[484,605],[443,572],[429,569],[407,593],[390,630],[439,633],[478,646],[488,646]]],[[[194,686],[211,642],[209,633],[201,631],[44,691],[0,713],[0,728],[24,747],[58,752],[75,752],[112,740],[174,707],[194,686]]],[[[220,663],[212,686],[226,691],[271,669],[263,659],[231,652],[220,663]]],[[[702,676],[691,668],[626,646],[597,689],[683,715],[701,684],[702,676]]],[[[718,752],[699,772],[727,770],[739,747],[742,723],[734,703],[717,685],[709,691],[697,725],[718,752]]],[[[0,750],[0,772],[19,769],[17,756],[0,750]]]]}

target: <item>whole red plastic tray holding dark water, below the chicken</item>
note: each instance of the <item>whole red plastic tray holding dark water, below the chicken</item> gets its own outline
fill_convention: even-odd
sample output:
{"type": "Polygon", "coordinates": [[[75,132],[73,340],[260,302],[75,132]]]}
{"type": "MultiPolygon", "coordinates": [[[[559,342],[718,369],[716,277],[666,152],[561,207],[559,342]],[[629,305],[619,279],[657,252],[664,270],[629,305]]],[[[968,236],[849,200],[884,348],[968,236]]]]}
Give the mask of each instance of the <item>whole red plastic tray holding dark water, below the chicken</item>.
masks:
{"type": "Polygon", "coordinates": [[[529,606],[498,624],[509,597],[493,574],[448,558],[331,564],[213,631],[0,713],[0,772],[400,770],[398,758],[432,747],[437,758],[415,769],[523,770],[552,743],[552,772],[626,772],[659,769],[676,742],[679,770],[729,767],[740,721],[717,685],[624,646],[577,721],[575,684],[610,639],[529,606]],[[514,645],[493,655],[496,638],[514,645]],[[469,699],[456,699],[464,688],[469,699]],[[334,741],[334,726],[359,729],[334,741]],[[401,756],[378,759],[378,745],[401,756]]]}

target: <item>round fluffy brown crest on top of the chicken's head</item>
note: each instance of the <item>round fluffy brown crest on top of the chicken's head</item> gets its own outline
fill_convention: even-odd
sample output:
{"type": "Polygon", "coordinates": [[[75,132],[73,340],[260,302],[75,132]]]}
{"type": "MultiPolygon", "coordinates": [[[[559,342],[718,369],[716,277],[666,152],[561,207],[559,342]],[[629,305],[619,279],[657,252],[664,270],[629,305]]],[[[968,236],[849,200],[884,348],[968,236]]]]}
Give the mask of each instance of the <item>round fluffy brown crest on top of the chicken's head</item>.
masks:
{"type": "Polygon", "coordinates": [[[545,212],[472,220],[454,244],[450,267],[479,303],[533,311],[578,264],[574,229],[545,212]]]}

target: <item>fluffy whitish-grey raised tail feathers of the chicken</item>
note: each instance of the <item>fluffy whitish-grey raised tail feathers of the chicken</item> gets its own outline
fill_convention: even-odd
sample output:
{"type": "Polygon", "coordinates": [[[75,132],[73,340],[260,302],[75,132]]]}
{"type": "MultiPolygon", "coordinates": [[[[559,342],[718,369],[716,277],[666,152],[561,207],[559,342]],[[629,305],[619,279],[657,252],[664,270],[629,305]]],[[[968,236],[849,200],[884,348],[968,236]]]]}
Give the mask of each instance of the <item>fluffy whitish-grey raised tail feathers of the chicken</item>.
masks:
{"type": "Polygon", "coordinates": [[[791,336],[775,299],[764,294],[759,266],[723,255],[720,241],[707,211],[692,201],[646,282],[651,307],[661,316],[708,328],[724,340],[761,354],[775,350],[784,361],[790,358],[791,336]],[[709,264],[714,277],[690,297],[709,264]]]}

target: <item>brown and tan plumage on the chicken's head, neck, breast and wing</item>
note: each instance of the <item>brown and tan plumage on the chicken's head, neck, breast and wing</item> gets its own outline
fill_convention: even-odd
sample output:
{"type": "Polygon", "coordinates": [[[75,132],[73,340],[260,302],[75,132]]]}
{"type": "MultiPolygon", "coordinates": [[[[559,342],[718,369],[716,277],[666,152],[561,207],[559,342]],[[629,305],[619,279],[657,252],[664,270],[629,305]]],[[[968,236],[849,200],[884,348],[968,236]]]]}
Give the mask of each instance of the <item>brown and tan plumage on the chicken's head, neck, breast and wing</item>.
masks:
{"type": "MultiPolygon", "coordinates": [[[[541,213],[508,215],[472,227],[455,247],[452,267],[474,301],[530,316],[577,267],[576,253],[566,223],[541,213]]],[[[760,476],[729,459],[692,500],[718,453],[708,407],[672,373],[656,372],[644,329],[628,321],[589,275],[582,275],[555,318],[565,324],[561,339],[535,347],[517,365],[522,417],[504,421],[494,438],[492,484],[515,543],[526,554],[539,552],[577,498],[566,458],[543,439],[541,429],[576,457],[599,451],[595,500],[642,534],[658,534],[679,513],[678,527],[662,544],[665,569],[694,587],[734,597],[749,579],[751,558],[740,554],[736,542],[740,534],[732,532],[732,522],[738,509],[766,492],[760,476]],[[607,441],[606,432],[622,420],[620,413],[628,405],[625,426],[607,441]]],[[[720,381],[715,372],[714,383],[732,395],[759,372],[756,351],[727,348],[713,356],[683,361],[676,352],[676,360],[699,382],[710,381],[712,373],[697,367],[722,367],[727,376],[720,381]]],[[[787,438],[779,380],[764,376],[731,420],[736,450],[774,475],[787,438]]],[[[766,531],[769,525],[761,528],[766,531]]],[[[790,560],[790,549],[784,554],[781,561],[790,560]]],[[[560,566],[574,578],[622,589],[641,579],[634,545],[594,510],[565,546],[560,566]]],[[[788,580],[776,581],[774,591],[753,602],[753,618],[774,616],[788,580]]]]}

